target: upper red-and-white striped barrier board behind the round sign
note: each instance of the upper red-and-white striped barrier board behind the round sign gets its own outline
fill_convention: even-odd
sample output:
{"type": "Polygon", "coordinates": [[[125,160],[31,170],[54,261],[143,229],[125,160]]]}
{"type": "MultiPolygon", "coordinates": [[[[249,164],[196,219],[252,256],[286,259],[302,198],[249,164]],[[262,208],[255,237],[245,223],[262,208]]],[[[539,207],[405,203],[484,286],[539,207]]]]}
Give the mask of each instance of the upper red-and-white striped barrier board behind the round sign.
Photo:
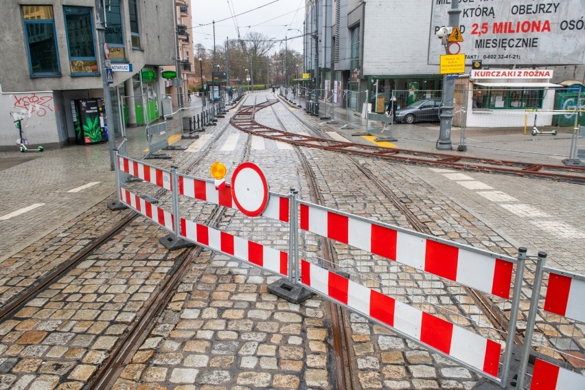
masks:
{"type": "MultiPolygon", "coordinates": [[[[179,175],[179,194],[194,199],[205,200],[215,205],[237,209],[236,203],[233,201],[230,185],[226,185],[222,190],[216,190],[213,181],[192,179],[179,175]]],[[[268,205],[266,205],[266,209],[262,212],[262,216],[288,222],[288,205],[289,200],[286,196],[270,194],[268,197],[268,205]]]]}

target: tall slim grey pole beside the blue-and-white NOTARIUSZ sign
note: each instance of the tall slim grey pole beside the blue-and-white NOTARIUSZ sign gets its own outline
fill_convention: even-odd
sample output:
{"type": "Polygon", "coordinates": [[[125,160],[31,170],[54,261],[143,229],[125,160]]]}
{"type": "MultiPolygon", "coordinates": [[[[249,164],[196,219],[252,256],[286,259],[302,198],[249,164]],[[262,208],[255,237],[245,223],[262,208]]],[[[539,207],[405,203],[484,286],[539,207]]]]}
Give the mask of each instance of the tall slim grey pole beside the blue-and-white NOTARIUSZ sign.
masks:
{"type": "Polygon", "coordinates": [[[110,95],[110,86],[108,84],[108,76],[106,75],[106,10],[104,8],[103,0],[95,0],[95,30],[98,32],[98,46],[100,47],[100,67],[102,67],[102,84],[104,88],[104,104],[106,109],[106,124],[111,128],[108,130],[108,149],[110,150],[110,170],[114,170],[115,152],[116,148],[116,131],[115,121],[113,120],[112,98],[110,95]]]}

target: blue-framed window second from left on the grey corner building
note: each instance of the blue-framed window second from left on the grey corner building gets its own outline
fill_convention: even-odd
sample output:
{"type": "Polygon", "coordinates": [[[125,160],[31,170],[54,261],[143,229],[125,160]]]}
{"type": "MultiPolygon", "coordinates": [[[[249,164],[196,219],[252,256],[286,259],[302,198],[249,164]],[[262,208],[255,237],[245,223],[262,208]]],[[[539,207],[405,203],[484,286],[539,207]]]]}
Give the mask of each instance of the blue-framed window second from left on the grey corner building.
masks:
{"type": "Polygon", "coordinates": [[[91,8],[63,7],[71,76],[99,75],[95,56],[91,8]]]}

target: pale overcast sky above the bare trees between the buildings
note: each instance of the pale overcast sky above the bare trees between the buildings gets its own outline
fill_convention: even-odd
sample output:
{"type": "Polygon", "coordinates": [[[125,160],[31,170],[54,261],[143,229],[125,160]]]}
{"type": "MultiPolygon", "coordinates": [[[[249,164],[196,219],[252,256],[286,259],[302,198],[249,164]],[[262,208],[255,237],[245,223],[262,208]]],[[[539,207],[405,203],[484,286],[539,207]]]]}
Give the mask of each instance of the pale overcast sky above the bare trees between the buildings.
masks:
{"type": "MultiPolygon", "coordinates": [[[[214,48],[216,21],[216,45],[225,45],[226,37],[238,38],[250,32],[260,32],[268,38],[284,40],[285,36],[299,36],[303,31],[305,0],[190,0],[193,14],[193,42],[206,49],[214,48]],[[262,7],[262,5],[266,5],[262,7]],[[257,8],[255,10],[255,8],[257,8]],[[242,14],[246,11],[245,14],[242,14]],[[242,14],[233,18],[233,15],[242,14]],[[225,19],[225,20],[223,20],[225,19]],[[288,31],[288,29],[292,29],[288,31]]],[[[275,43],[273,50],[279,49],[275,43]]],[[[282,43],[284,49],[284,42],[282,43]]],[[[301,37],[288,40],[288,49],[303,52],[301,37]]]]}

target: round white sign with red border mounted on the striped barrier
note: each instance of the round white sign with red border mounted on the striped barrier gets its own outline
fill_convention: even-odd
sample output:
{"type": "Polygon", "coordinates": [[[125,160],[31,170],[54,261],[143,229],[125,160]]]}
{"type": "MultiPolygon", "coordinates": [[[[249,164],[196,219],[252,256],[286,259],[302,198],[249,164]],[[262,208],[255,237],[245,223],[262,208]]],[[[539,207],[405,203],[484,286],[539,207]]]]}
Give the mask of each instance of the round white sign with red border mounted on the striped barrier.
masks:
{"type": "Polygon", "coordinates": [[[246,216],[262,214],[268,203],[268,183],[258,165],[249,161],[238,165],[231,177],[231,195],[246,216]]]}

